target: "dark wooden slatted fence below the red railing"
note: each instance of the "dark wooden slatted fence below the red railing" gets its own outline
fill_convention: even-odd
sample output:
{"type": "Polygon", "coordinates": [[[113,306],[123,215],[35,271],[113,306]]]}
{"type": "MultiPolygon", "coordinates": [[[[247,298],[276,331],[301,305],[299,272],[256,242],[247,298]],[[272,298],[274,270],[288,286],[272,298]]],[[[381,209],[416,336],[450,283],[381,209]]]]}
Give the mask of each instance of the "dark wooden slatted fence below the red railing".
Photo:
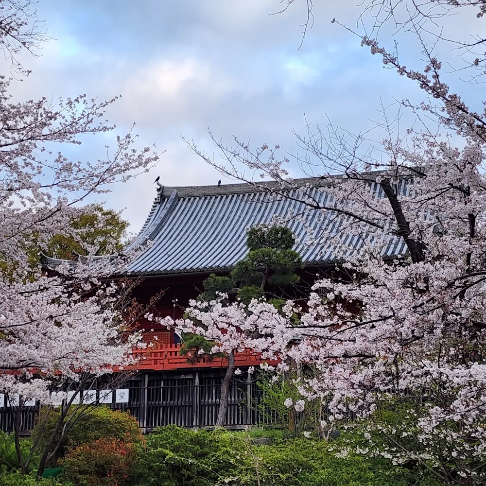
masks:
{"type": "MultiPolygon", "coordinates": [[[[177,378],[149,378],[130,381],[119,388],[128,391],[128,401],[118,402],[116,391],[113,390],[111,403],[106,403],[112,409],[129,411],[134,415],[140,427],[150,432],[158,426],[179,425],[181,427],[213,427],[218,415],[221,382],[223,377],[192,376],[177,378]]],[[[97,390],[96,402],[99,405],[100,390],[97,390]]],[[[262,391],[251,375],[243,380],[235,377],[231,383],[228,408],[226,412],[226,427],[241,429],[247,425],[271,425],[275,414],[262,410],[260,406],[262,391]]],[[[82,401],[82,399],[81,399],[82,401]]],[[[35,424],[39,405],[12,408],[0,407],[0,429],[5,432],[14,430],[14,416],[19,414],[21,431],[28,434],[35,424]]]]}

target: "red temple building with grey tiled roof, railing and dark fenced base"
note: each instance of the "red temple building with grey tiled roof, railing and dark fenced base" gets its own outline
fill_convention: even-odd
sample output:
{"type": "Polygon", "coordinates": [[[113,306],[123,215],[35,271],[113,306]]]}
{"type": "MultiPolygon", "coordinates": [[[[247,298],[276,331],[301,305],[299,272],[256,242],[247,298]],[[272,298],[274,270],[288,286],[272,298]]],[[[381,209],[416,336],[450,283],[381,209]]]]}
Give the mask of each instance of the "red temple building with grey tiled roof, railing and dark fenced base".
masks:
{"type": "MultiPolygon", "coordinates": [[[[248,228],[278,223],[292,230],[294,250],[304,264],[301,282],[289,291],[289,297],[305,298],[316,277],[332,276],[343,255],[360,245],[361,239],[350,236],[342,240],[339,252],[331,243],[314,240],[324,229],[339,230],[339,219],[323,209],[332,205],[332,197],[319,178],[295,179],[293,184],[164,187],[157,183],[154,203],[133,243],[150,245],[120,277],[140,279],[135,295],[140,303],[163,291],[156,314],[180,318],[189,300],[201,292],[205,278],[212,273],[228,274],[244,258],[248,228]]],[[[403,245],[399,240],[391,242],[386,255],[403,252],[403,245]]],[[[52,270],[60,263],[62,260],[44,258],[44,265],[52,270]]],[[[148,321],[139,326],[147,330],[145,339],[154,346],[136,352],[137,373],[123,385],[124,401],[116,399],[120,394],[113,394],[111,406],[130,409],[147,431],[169,423],[213,425],[226,359],[188,360],[180,354],[180,337],[174,330],[148,321]]],[[[261,358],[247,350],[238,353],[235,361],[243,373],[232,384],[227,425],[261,423],[267,418],[255,407],[260,390],[254,377],[246,373],[249,366],[259,366],[261,358]]],[[[7,430],[1,423],[1,411],[0,426],[7,430]]]]}

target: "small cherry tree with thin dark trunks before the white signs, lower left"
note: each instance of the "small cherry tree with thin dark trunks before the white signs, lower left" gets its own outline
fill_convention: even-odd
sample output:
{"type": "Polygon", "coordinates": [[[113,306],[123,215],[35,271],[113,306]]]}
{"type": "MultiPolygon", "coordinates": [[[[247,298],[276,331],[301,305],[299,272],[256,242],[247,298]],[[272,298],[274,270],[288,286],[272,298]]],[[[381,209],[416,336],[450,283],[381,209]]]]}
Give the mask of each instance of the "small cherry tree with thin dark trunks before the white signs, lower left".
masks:
{"type": "MultiPolygon", "coordinates": [[[[76,276],[79,276],[78,272],[76,276]]],[[[76,282],[70,292],[74,300],[83,302],[82,307],[76,309],[72,305],[65,306],[65,315],[55,316],[54,324],[50,327],[45,325],[42,333],[45,341],[38,338],[34,343],[20,343],[19,340],[11,343],[15,347],[22,347],[23,352],[30,353],[26,359],[32,357],[33,362],[37,360],[44,366],[41,368],[33,363],[27,372],[22,368],[16,376],[8,374],[2,382],[14,419],[14,440],[22,472],[27,473],[32,469],[38,454],[40,460],[35,464],[38,476],[42,475],[47,466],[55,464],[59,448],[72,426],[81,417],[91,413],[96,405],[96,394],[94,399],[88,398],[87,391],[96,390],[100,382],[104,383],[104,389],[118,388],[136,372],[136,360],[131,357],[131,352],[134,345],[143,346],[138,342],[140,335],[137,322],[152,308],[157,298],[154,297],[145,306],[135,302],[132,293],[138,284],[139,281],[133,279],[123,279],[117,284],[110,282],[93,285],[91,279],[76,282]],[[75,295],[76,289],[79,289],[79,299],[75,295]],[[93,297],[93,294],[96,295],[93,297]],[[74,316],[79,313],[77,320],[81,320],[83,312],[86,312],[88,319],[86,325],[73,324],[74,316]],[[96,324],[96,319],[102,319],[104,325],[96,324]],[[71,339],[65,336],[66,329],[63,332],[66,326],[74,333],[71,339]],[[52,327],[59,332],[53,332],[52,327]],[[92,329],[104,334],[93,335],[92,329]],[[61,340],[59,346],[65,347],[63,355],[57,351],[56,340],[61,340]],[[48,356],[47,351],[45,356],[37,352],[49,347],[52,349],[52,357],[48,356]],[[8,378],[11,378],[10,382],[8,378]],[[33,439],[30,450],[26,451],[20,447],[20,432],[25,430],[22,420],[28,407],[36,403],[42,405],[37,417],[39,434],[33,439]],[[52,424],[52,427],[46,431],[47,424],[52,424]]],[[[59,311],[59,303],[68,300],[66,293],[67,286],[63,278],[60,302],[54,310],[59,311]]],[[[38,309],[42,311],[42,306],[39,305],[38,309]]],[[[52,317],[46,320],[52,322],[52,317]]],[[[29,328],[26,327],[26,330],[29,328]]],[[[100,392],[100,399],[102,397],[100,392]]]]}

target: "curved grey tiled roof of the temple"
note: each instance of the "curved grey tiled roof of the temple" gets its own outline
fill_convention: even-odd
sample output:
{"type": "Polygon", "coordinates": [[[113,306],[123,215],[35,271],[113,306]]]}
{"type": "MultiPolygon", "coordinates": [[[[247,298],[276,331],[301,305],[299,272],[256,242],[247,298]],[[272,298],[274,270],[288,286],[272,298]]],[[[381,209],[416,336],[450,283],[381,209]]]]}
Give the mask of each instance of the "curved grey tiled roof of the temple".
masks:
{"type": "MultiPolygon", "coordinates": [[[[323,181],[295,180],[297,187],[307,183],[312,186],[308,194],[319,206],[329,204],[330,195],[323,181]]],[[[265,186],[279,189],[277,183],[265,183],[265,186]]],[[[295,245],[295,250],[306,265],[339,260],[333,244],[309,244],[308,241],[313,232],[339,229],[333,228],[337,221],[334,215],[309,209],[301,201],[301,192],[295,189],[286,190],[286,193],[290,198],[278,198],[249,184],[160,186],[136,240],[136,244],[151,241],[152,246],[130,265],[129,273],[167,275],[229,270],[246,255],[246,229],[271,224],[276,216],[286,218],[286,225],[302,242],[295,245]],[[305,216],[292,218],[289,214],[305,216]]],[[[358,237],[349,236],[342,245],[347,251],[353,251],[360,242],[358,237]]],[[[392,256],[403,253],[404,249],[404,243],[396,239],[389,242],[384,253],[392,256]]],[[[55,259],[49,260],[49,264],[55,264],[55,259]]]]}

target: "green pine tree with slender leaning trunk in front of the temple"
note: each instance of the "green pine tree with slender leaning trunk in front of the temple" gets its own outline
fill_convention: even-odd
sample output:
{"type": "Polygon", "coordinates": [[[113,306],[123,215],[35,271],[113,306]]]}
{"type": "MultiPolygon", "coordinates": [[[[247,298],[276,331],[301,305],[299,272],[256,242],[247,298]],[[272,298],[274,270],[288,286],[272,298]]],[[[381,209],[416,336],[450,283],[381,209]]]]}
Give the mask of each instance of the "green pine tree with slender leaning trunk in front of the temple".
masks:
{"type": "MultiPolygon", "coordinates": [[[[268,299],[268,302],[278,306],[285,302],[279,298],[278,287],[294,285],[299,281],[299,276],[295,269],[302,266],[302,260],[297,252],[292,248],[295,239],[292,232],[283,226],[274,227],[254,227],[247,231],[248,254],[243,260],[239,261],[228,277],[210,275],[204,282],[204,291],[198,296],[200,302],[211,307],[214,302],[219,304],[234,302],[235,300],[248,306],[252,300],[268,299]],[[274,292],[269,292],[271,288],[274,292]],[[226,295],[222,298],[222,294],[226,295]]],[[[189,316],[191,313],[189,312],[189,316]]],[[[194,319],[197,322],[197,319],[194,319]]],[[[238,327],[225,327],[221,323],[219,331],[226,330],[226,334],[242,334],[242,336],[258,338],[258,329],[238,329],[238,327]]],[[[182,330],[187,331],[186,324],[182,325],[182,330]]],[[[204,354],[219,353],[219,339],[226,339],[225,334],[217,333],[213,336],[214,329],[204,328],[198,323],[197,333],[185,333],[185,347],[182,352],[187,353],[191,350],[195,356],[204,354]],[[208,332],[209,331],[209,332],[208,332]],[[219,339],[214,339],[218,337],[219,339]]],[[[234,344],[237,344],[235,342],[234,344]]],[[[216,420],[216,426],[222,427],[226,420],[226,409],[228,401],[229,386],[235,373],[235,351],[236,346],[226,350],[228,359],[225,377],[221,386],[221,401],[216,420]]]]}

